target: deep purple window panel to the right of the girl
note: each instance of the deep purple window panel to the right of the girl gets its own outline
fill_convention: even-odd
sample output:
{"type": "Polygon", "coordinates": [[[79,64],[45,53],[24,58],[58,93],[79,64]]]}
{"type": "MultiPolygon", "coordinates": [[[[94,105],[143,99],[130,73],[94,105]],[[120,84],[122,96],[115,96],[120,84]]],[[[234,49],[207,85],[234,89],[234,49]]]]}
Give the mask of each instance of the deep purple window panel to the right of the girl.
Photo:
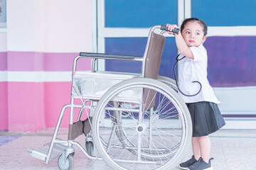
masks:
{"type": "Polygon", "coordinates": [[[212,86],[256,86],[256,37],[209,37],[208,79],[212,86]]]}

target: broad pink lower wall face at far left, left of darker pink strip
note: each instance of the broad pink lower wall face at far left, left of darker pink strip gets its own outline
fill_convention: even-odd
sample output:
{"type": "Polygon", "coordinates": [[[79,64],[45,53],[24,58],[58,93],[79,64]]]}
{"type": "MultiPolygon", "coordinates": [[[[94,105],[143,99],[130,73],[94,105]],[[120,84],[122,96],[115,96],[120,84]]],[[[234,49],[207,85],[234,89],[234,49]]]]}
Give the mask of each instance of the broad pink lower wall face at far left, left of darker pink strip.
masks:
{"type": "Polygon", "coordinates": [[[45,128],[43,83],[8,82],[8,130],[45,128]]]}

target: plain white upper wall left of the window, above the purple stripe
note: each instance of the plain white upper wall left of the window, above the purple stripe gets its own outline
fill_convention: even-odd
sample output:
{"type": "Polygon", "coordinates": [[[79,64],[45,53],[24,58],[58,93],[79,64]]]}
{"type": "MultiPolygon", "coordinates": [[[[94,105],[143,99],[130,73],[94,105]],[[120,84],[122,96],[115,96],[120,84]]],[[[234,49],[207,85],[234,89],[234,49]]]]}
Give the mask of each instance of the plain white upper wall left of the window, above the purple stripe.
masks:
{"type": "Polygon", "coordinates": [[[16,11],[7,14],[9,51],[92,49],[90,0],[11,0],[7,11],[16,11]]]}

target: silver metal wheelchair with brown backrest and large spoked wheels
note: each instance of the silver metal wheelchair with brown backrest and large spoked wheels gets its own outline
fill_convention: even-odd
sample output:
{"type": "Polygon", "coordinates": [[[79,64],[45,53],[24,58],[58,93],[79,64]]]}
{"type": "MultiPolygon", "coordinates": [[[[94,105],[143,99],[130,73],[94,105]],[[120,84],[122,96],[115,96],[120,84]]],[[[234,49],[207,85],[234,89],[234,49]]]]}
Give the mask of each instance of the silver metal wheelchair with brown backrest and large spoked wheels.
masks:
{"type": "Polygon", "coordinates": [[[60,154],[59,169],[73,169],[75,145],[89,159],[105,161],[112,169],[174,169],[190,145],[192,123],[175,81],[158,75],[165,40],[162,26],[153,26],[144,56],[80,52],[73,62],[70,104],[60,111],[51,142],[28,149],[31,156],[48,164],[60,154]],[[83,58],[92,60],[89,72],[77,70],[83,58]],[[142,72],[100,72],[97,60],[141,62],[142,72]],[[66,108],[68,140],[61,140],[56,137],[66,108]],[[80,120],[82,114],[86,120],[80,120]],[[75,142],[82,134],[85,146],[75,142]]]}

